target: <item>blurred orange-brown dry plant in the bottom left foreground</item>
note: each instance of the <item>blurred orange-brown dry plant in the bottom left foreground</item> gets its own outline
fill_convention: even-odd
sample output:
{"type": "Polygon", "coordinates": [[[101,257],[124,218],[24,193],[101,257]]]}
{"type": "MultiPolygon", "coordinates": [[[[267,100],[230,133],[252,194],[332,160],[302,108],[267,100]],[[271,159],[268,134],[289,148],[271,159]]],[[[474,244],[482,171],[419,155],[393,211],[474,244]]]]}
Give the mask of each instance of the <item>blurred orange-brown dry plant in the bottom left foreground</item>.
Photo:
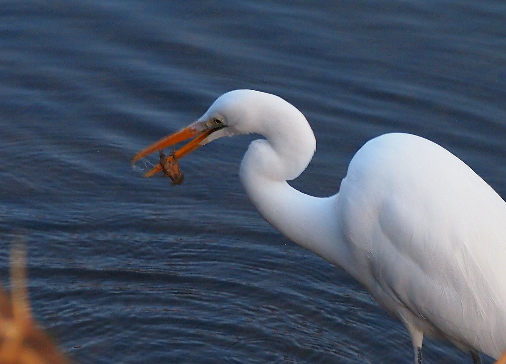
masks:
{"type": "Polygon", "coordinates": [[[10,275],[10,298],[0,286],[0,364],[70,364],[32,319],[20,243],[11,249],[10,275]]]}

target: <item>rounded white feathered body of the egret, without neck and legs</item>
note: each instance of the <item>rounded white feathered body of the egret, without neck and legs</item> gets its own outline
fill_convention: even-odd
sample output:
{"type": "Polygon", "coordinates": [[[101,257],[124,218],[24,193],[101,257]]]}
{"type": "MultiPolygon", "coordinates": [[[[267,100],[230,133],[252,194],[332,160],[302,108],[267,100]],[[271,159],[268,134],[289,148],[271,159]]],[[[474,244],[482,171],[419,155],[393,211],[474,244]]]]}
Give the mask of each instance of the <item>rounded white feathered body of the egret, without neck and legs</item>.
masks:
{"type": "Polygon", "coordinates": [[[426,139],[386,134],[357,152],[333,203],[353,257],[338,263],[408,330],[500,356],[506,203],[482,178],[426,139]]]}

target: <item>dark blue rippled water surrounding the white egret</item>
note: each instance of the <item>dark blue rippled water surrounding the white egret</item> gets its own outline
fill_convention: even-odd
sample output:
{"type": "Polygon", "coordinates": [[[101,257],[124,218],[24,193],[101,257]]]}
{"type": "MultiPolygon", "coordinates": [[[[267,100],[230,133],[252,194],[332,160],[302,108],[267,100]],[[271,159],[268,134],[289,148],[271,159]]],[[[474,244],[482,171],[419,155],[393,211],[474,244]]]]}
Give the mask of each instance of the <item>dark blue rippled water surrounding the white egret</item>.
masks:
{"type": "Polygon", "coordinates": [[[178,187],[129,159],[254,88],[315,131],[306,193],[335,193],[364,142],[404,131],[504,198],[505,65],[503,0],[1,1],[4,282],[21,232],[34,315],[82,364],[410,363],[400,323],[251,207],[251,137],[184,159],[178,187]]]}

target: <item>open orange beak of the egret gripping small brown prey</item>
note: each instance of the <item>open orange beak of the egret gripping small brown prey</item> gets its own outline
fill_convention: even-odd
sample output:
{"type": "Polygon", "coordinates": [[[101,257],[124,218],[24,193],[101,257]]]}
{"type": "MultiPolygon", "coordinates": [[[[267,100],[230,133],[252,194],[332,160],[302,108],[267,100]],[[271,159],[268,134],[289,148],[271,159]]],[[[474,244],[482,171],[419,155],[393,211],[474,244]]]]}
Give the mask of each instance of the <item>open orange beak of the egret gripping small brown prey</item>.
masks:
{"type": "MultiPolygon", "coordinates": [[[[143,149],[139,153],[137,153],[134,158],[132,158],[131,162],[135,163],[137,160],[153,153],[158,150],[162,150],[167,147],[171,147],[177,143],[183,142],[187,139],[194,138],[190,143],[184,145],[182,148],[178,149],[174,155],[177,159],[184,157],[188,153],[193,152],[195,149],[201,146],[201,142],[209,136],[213,131],[216,131],[219,128],[209,128],[206,123],[202,121],[195,121],[194,123],[188,125],[187,127],[176,131],[170,135],[165,136],[165,138],[160,139],[158,142],[155,142],[151,144],[146,149],[143,149]]],[[[171,162],[173,159],[173,156],[170,155],[167,157],[167,162],[171,162]]],[[[149,171],[144,173],[143,177],[151,177],[152,175],[158,173],[161,171],[161,165],[157,164],[153,168],[151,168],[149,171]]]]}

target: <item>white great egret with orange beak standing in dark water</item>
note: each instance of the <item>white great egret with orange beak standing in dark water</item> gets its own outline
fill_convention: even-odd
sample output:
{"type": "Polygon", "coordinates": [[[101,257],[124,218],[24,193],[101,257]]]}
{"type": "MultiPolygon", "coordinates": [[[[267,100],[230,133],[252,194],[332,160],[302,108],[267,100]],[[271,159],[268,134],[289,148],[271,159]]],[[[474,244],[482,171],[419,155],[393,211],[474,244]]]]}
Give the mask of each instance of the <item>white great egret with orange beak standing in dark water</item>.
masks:
{"type": "Polygon", "coordinates": [[[355,154],[339,193],[309,196],[286,182],[315,152],[306,118],[277,96],[242,89],[132,161],[192,137],[177,157],[248,133],[266,138],[249,145],[240,167],[252,204],[396,316],[411,336],[415,364],[424,334],[470,350],[475,364],[478,351],[498,358],[506,350],[506,203],[439,145],[406,133],[377,136],[355,154]]]}

